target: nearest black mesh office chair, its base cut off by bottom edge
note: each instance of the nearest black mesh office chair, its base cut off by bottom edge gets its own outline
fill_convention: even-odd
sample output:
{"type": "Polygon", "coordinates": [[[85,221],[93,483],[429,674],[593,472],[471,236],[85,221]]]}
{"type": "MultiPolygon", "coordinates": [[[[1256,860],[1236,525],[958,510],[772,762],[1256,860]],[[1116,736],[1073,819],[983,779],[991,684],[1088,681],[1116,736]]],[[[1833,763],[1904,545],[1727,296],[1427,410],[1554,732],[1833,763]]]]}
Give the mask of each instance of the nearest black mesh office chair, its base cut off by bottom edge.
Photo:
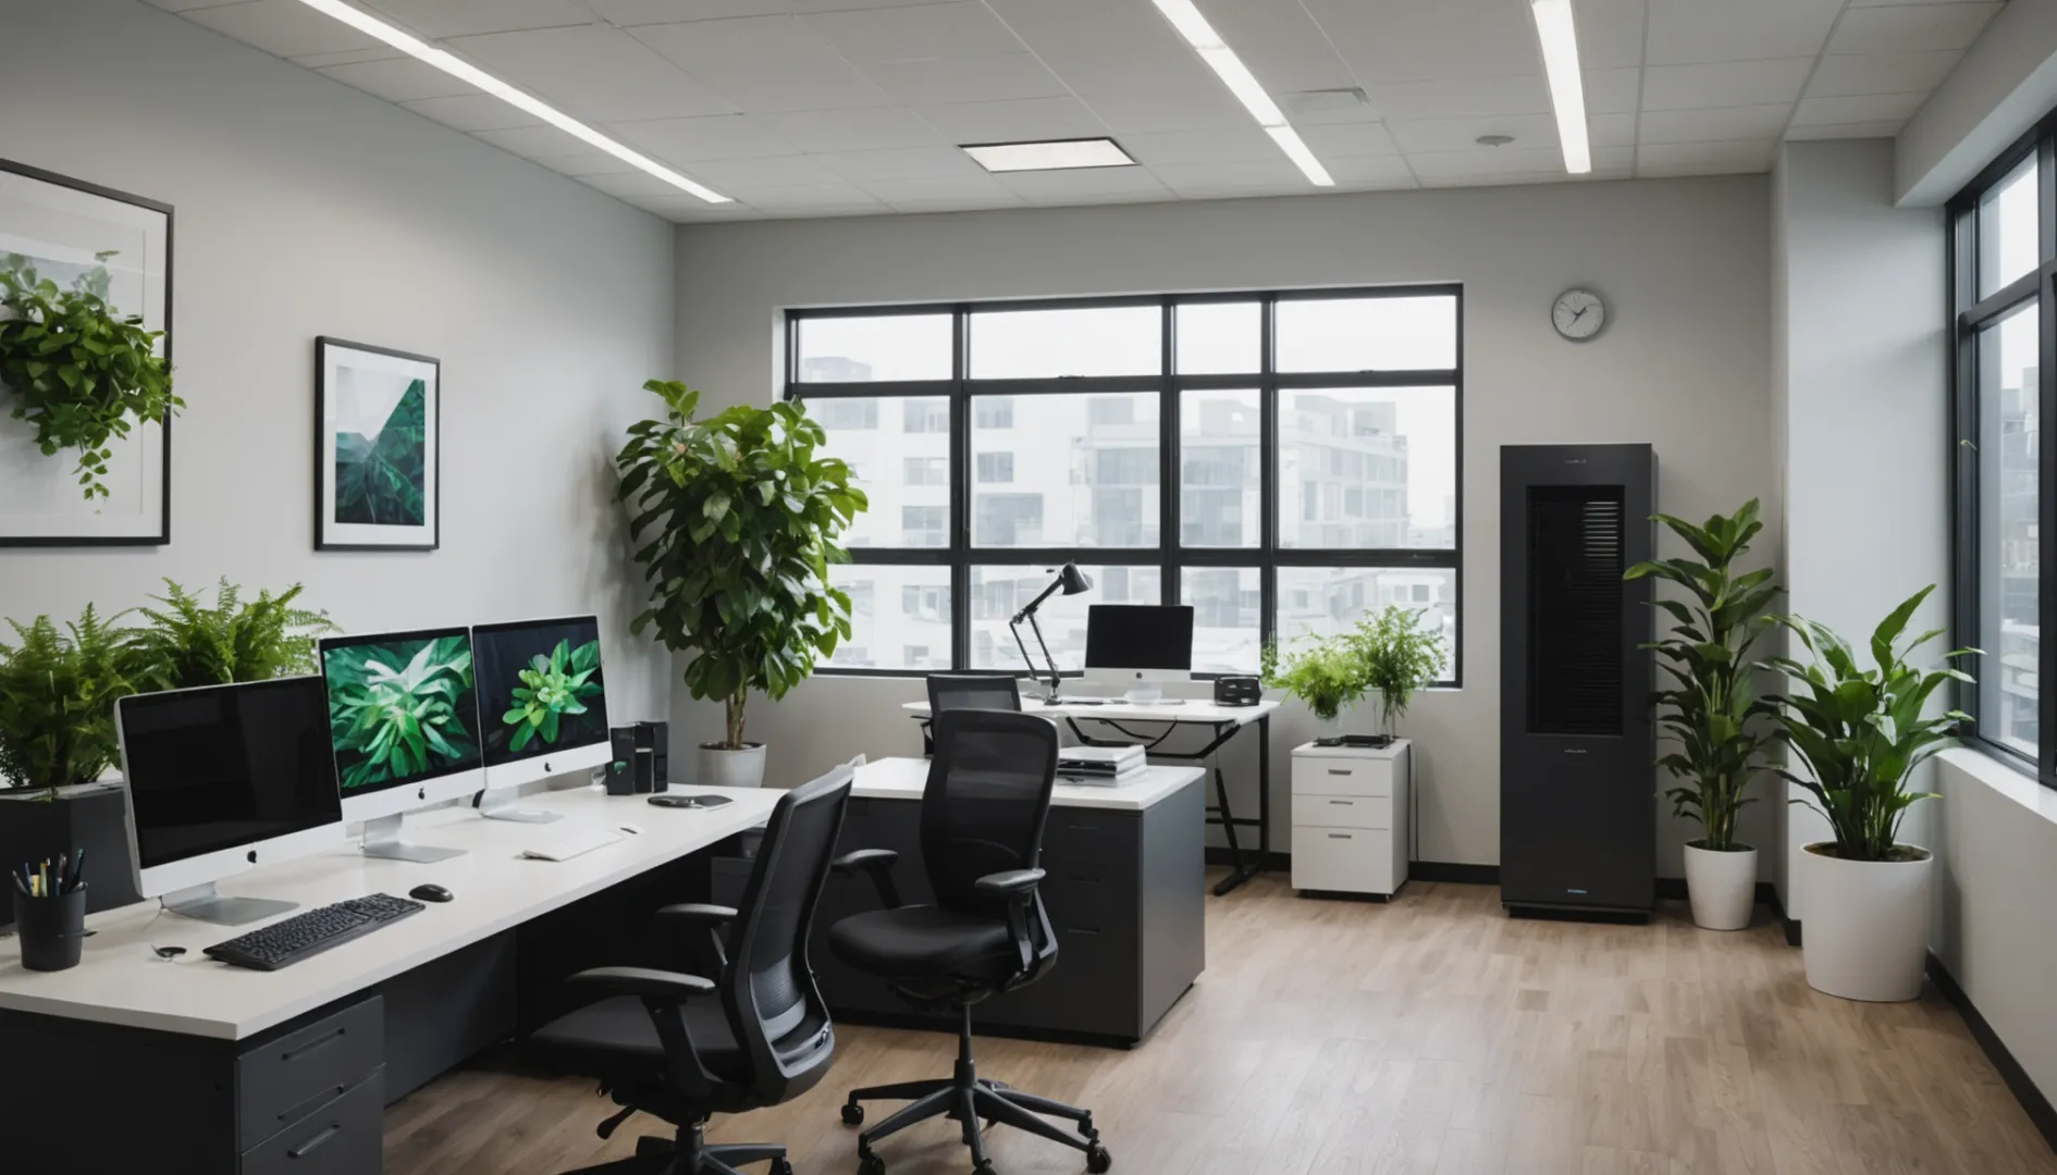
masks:
{"type": "Polygon", "coordinates": [[[584,1175],[736,1175],[738,1165],[765,1161],[773,1175],[792,1175],[784,1146],[710,1146],[701,1132],[712,1113],[790,1101],[829,1072],[835,1033],[806,965],[806,936],[850,784],[845,765],[780,798],[741,914],[697,903],[658,910],[689,934],[699,975],[599,967],[568,980],[597,1002],[545,1025],[529,1049],[601,1078],[623,1107],[601,1124],[601,1138],[638,1111],[679,1128],[675,1140],[644,1138],[636,1159],[584,1175]]]}

